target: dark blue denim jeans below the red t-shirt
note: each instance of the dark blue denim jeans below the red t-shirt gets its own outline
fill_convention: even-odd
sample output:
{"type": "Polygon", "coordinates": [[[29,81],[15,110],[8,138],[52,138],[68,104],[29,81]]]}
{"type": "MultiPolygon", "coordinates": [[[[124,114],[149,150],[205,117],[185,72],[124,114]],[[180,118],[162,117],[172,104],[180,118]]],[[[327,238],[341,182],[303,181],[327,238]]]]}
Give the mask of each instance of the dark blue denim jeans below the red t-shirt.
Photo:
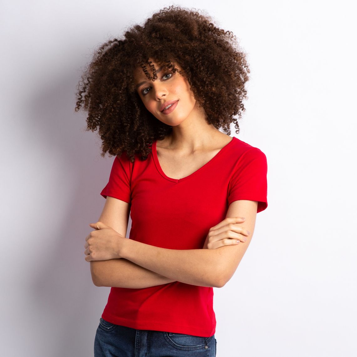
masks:
{"type": "Polygon", "coordinates": [[[94,340],[94,357],[215,357],[215,335],[135,330],[100,318],[94,340]]]}

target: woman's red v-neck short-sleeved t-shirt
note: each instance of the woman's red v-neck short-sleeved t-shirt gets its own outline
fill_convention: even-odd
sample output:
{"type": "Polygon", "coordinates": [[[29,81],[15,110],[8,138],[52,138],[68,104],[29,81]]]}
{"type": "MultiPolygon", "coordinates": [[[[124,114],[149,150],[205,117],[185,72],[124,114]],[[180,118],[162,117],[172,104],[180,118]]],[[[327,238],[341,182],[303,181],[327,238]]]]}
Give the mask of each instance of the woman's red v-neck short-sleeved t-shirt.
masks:
{"type": "MultiPolygon", "coordinates": [[[[265,154],[236,137],[200,169],[175,179],[162,171],[156,141],[147,160],[116,156],[101,195],[131,203],[130,239],[169,249],[200,249],[208,230],[236,200],[267,207],[265,154]]],[[[138,330],[210,337],[213,288],[172,282],[142,289],[112,287],[102,318],[138,330]]]]}

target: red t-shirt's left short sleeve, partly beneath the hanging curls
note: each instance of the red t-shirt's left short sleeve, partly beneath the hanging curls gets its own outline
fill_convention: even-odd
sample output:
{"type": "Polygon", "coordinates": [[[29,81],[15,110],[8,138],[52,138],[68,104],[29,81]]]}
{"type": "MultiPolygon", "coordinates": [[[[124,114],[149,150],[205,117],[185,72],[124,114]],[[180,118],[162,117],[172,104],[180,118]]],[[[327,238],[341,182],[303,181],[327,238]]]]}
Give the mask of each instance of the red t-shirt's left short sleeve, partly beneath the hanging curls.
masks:
{"type": "Polygon", "coordinates": [[[109,182],[100,193],[104,198],[111,196],[118,200],[131,202],[130,177],[131,162],[125,152],[116,156],[109,176],[109,182]]]}

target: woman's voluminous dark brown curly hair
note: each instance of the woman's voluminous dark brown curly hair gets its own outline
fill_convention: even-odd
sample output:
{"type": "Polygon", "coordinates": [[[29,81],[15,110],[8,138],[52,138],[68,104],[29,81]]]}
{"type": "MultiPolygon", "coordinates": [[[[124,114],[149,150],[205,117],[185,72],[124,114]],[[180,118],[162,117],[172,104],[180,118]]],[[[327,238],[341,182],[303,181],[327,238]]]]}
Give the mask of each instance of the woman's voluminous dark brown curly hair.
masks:
{"type": "Polygon", "coordinates": [[[151,144],[172,131],[145,108],[135,88],[138,67],[149,80],[157,78],[149,59],[172,72],[180,72],[174,65],[178,63],[208,124],[230,135],[233,122],[238,134],[234,116],[241,117],[245,110],[250,70],[231,31],[216,27],[208,15],[171,5],[143,26],[131,27],[124,37],[100,45],[77,85],[75,111],[83,106],[88,112],[87,131],[99,127],[102,157],[125,151],[131,162],[136,153],[146,160],[151,144]]]}

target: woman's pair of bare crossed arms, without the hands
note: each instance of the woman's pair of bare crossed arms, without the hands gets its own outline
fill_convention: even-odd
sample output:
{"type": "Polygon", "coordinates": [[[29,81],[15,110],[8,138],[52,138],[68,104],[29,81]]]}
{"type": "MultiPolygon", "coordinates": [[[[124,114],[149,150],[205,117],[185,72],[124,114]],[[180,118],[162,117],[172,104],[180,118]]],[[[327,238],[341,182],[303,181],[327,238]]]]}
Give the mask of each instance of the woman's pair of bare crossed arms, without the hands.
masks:
{"type": "Polygon", "coordinates": [[[128,203],[107,197],[99,222],[104,223],[103,228],[110,229],[100,229],[99,232],[107,236],[116,234],[117,240],[114,241],[120,242],[116,246],[120,259],[91,258],[91,275],[96,286],[146,288],[180,281],[191,285],[222,287],[236,271],[251,241],[257,201],[231,203],[226,215],[227,222],[232,222],[233,217],[246,217],[243,226],[251,233],[245,242],[216,249],[174,250],[123,238],[126,235],[128,210],[128,203]]]}

